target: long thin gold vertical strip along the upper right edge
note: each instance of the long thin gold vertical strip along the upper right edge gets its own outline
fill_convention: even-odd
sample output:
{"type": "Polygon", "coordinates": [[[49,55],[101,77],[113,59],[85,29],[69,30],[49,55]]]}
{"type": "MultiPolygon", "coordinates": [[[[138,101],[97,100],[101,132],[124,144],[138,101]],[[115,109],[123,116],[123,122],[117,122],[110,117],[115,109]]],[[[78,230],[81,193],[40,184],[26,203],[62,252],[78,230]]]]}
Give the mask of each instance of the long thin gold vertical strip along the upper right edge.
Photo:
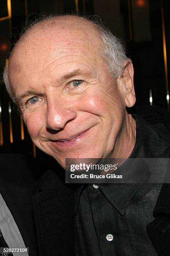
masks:
{"type": "Polygon", "coordinates": [[[170,111],[169,102],[169,87],[168,87],[168,67],[167,67],[167,53],[166,53],[166,38],[165,38],[165,23],[164,23],[164,13],[163,13],[163,0],[161,0],[161,19],[162,19],[162,30],[163,30],[163,56],[164,56],[164,68],[165,68],[165,86],[166,86],[166,99],[167,99],[167,109],[170,111]]]}

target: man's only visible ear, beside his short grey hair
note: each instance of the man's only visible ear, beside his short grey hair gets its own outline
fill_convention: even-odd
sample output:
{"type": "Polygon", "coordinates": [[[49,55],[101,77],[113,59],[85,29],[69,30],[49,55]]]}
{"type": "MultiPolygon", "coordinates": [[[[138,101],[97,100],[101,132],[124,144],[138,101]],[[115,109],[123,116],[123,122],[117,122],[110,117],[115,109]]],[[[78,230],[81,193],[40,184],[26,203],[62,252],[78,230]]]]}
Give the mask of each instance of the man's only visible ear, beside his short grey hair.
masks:
{"type": "Polygon", "coordinates": [[[133,75],[134,75],[134,69],[133,69],[132,61],[130,59],[127,59],[124,62],[122,80],[124,85],[123,89],[124,89],[125,104],[128,108],[133,107],[133,105],[136,102],[133,75]]]}

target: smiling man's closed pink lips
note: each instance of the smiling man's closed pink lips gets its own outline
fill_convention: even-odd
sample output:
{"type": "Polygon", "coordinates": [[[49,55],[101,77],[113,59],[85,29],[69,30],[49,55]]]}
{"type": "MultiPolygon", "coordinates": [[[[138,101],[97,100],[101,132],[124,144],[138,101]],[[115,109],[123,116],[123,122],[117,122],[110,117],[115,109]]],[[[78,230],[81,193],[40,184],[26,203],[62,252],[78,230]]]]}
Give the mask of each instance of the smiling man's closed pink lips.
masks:
{"type": "Polygon", "coordinates": [[[81,133],[77,133],[67,139],[60,139],[60,140],[52,141],[52,143],[55,143],[56,145],[62,146],[62,147],[75,146],[77,143],[82,141],[82,138],[85,136],[85,134],[87,133],[88,130],[89,129],[87,129],[86,131],[83,131],[81,133]]]}

